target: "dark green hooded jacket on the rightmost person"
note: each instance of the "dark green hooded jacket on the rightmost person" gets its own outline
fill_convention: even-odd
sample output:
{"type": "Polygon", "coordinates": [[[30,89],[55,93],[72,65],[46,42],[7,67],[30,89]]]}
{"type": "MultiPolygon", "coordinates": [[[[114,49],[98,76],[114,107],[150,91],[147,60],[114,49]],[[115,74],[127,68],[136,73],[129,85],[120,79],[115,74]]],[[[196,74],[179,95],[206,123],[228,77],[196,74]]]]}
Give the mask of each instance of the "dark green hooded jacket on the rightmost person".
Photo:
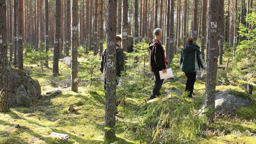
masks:
{"type": "Polygon", "coordinates": [[[204,69],[200,47],[192,43],[184,46],[180,54],[180,69],[183,72],[192,73],[204,69]]]}

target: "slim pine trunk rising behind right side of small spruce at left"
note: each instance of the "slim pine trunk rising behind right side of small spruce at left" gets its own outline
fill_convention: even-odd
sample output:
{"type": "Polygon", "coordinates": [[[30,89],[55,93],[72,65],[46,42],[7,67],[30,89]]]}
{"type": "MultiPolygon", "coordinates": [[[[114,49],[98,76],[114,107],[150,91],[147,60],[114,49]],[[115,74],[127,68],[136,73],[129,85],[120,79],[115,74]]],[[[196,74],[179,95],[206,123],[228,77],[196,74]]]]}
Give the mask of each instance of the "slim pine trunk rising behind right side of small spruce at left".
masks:
{"type": "MultiPolygon", "coordinates": [[[[49,50],[49,11],[48,11],[48,0],[44,0],[44,29],[45,29],[45,52],[49,50]]],[[[46,60],[46,67],[48,66],[48,58],[46,60]]]]}

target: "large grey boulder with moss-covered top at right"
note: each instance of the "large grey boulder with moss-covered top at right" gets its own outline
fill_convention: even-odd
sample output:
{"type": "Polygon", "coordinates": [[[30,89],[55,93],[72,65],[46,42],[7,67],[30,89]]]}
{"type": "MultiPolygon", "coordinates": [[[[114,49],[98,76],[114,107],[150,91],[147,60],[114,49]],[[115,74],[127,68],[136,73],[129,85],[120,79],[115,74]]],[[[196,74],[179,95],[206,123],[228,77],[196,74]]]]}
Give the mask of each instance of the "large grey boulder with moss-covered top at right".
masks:
{"type": "MultiPolygon", "coordinates": [[[[250,106],[250,94],[243,87],[220,86],[217,91],[215,95],[216,114],[229,113],[234,115],[237,109],[250,106]]],[[[204,104],[202,109],[204,109],[204,104]]]]}

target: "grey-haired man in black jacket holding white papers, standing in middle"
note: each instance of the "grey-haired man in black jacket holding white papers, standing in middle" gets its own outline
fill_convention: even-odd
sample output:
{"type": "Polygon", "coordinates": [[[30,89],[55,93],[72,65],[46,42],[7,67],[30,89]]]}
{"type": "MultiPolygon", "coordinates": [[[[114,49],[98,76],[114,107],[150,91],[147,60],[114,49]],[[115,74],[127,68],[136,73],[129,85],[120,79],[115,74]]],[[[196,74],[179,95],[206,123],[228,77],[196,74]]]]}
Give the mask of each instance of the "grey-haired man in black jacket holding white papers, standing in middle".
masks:
{"type": "Polygon", "coordinates": [[[155,38],[149,43],[149,68],[154,73],[155,85],[153,91],[149,97],[149,100],[154,99],[156,95],[159,95],[159,91],[162,87],[164,79],[160,79],[159,71],[163,70],[166,73],[166,65],[168,61],[165,58],[164,48],[161,45],[160,40],[162,39],[162,30],[157,28],[154,30],[155,38]]]}

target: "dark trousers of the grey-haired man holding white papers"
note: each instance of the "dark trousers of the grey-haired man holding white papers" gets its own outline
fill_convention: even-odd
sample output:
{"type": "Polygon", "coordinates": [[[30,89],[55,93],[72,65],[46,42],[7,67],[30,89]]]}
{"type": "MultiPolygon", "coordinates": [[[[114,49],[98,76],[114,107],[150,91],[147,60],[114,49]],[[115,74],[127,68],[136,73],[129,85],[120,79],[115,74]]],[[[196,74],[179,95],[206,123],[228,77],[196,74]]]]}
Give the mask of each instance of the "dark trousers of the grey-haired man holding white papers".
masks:
{"type": "Polygon", "coordinates": [[[149,100],[156,98],[156,95],[159,96],[159,91],[163,85],[164,79],[160,79],[159,72],[154,72],[155,76],[155,85],[153,87],[153,91],[149,97],[149,100]]]}

